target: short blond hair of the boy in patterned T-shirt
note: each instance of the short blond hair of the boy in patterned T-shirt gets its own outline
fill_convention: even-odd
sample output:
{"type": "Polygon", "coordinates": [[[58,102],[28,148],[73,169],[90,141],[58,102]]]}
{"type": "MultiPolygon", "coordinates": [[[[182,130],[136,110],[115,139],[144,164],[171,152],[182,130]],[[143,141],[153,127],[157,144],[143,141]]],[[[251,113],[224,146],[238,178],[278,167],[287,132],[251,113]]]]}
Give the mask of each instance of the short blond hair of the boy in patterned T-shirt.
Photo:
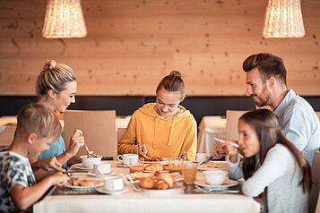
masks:
{"type": "MultiPolygon", "coordinates": [[[[24,106],[18,113],[15,135],[24,136],[31,132],[39,138],[54,137],[58,140],[62,127],[53,110],[40,104],[24,106]]],[[[55,141],[56,141],[55,140],[55,141]]]]}

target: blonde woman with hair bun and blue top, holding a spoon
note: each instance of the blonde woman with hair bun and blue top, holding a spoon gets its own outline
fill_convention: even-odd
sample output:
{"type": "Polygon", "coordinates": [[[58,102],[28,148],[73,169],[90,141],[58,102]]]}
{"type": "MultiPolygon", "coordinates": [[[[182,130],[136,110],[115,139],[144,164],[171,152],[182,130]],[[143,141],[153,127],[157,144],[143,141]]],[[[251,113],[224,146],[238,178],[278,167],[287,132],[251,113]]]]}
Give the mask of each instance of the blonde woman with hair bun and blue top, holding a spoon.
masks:
{"type": "MultiPolygon", "coordinates": [[[[76,89],[77,82],[74,70],[68,65],[56,64],[56,61],[49,60],[37,79],[38,103],[63,113],[70,104],[75,102],[76,89]]],[[[39,155],[39,159],[56,157],[63,168],[66,168],[66,162],[69,164],[80,162],[80,159],[74,156],[83,144],[82,131],[75,130],[68,149],[65,149],[65,141],[60,136],[58,141],[51,143],[50,148],[39,155]]],[[[37,160],[37,158],[30,158],[31,163],[35,163],[37,160]]],[[[37,179],[38,177],[37,174],[37,179]]]]}

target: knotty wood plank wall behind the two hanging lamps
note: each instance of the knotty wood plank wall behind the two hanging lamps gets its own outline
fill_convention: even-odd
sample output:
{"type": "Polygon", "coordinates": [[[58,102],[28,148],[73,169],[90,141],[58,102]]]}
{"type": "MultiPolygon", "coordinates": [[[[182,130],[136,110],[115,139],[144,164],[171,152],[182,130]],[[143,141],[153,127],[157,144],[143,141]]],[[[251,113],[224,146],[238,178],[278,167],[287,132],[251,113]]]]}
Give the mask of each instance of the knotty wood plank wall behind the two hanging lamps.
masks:
{"type": "Polygon", "coordinates": [[[242,96],[247,55],[281,56],[288,84],[320,95],[320,1],[302,0],[305,38],[264,39],[267,0],[82,0],[88,36],[42,38],[45,0],[0,1],[0,95],[34,95],[47,59],[68,64],[78,95],[154,95],[171,70],[189,96],[242,96]]]}

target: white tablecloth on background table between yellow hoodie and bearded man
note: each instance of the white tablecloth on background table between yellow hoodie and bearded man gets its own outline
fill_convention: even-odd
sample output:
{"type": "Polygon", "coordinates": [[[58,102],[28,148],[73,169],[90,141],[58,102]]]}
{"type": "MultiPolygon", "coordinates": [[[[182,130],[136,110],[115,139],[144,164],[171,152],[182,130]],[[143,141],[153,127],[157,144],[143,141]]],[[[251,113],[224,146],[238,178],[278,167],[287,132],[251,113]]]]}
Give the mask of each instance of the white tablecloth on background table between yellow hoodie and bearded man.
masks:
{"type": "Polygon", "coordinates": [[[212,155],[213,145],[216,141],[214,137],[226,137],[227,119],[221,116],[203,116],[199,125],[198,150],[212,155]]]}

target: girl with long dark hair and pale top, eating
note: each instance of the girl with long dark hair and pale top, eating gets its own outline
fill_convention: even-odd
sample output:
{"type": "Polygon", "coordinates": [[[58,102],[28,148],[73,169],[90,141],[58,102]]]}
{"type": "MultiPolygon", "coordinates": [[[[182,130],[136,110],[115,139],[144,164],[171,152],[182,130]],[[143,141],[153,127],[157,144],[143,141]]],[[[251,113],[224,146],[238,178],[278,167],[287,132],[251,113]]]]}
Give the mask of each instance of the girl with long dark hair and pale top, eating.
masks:
{"type": "MultiPolygon", "coordinates": [[[[267,212],[307,212],[311,190],[311,169],[306,158],[281,132],[276,115],[259,109],[238,121],[238,145],[243,154],[226,140],[229,178],[244,177],[246,196],[261,195],[267,212]]],[[[235,142],[235,141],[232,141],[235,142]]]]}

